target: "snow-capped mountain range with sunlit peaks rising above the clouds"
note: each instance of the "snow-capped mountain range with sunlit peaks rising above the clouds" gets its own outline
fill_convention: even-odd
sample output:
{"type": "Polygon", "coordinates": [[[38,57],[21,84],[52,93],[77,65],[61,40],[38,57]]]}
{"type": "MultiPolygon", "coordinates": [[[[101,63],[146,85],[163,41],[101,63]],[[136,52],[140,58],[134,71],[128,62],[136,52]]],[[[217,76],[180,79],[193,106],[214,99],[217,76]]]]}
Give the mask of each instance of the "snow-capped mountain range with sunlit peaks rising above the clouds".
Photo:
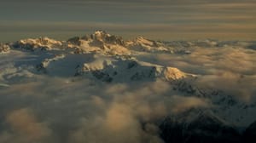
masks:
{"type": "MultiPolygon", "coordinates": [[[[67,41],[49,37],[22,39],[0,44],[0,89],[11,89],[16,84],[36,82],[40,79],[36,77],[60,77],[73,83],[88,79],[100,85],[137,85],[163,81],[168,91],[175,94],[175,98],[178,94],[177,96],[188,99],[203,100],[207,105],[201,102],[202,106],[198,106],[197,102],[194,105],[192,101],[177,102],[177,106],[182,106],[178,108],[178,112],[170,108],[164,117],[151,121],[160,129],[158,135],[161,140],[166,143],[254,142],[254,98],[250,101],[241,100],[230,90],[233,87],[218,88],[216,83],[213,86],[212,81],[215,78],[211,75],[222,77],[223,74],[203,71],[200,68],[207,68],[208,65],[196,65],[196,62],[201,63],[203,59],[197,58],[205,56],[222,60],[218,52],[228,49],[255,55],[255,45],[255,42],[225,42],[212,39],[165,42],[137,37],[134,40],[124,40],[106,31],[96,31],[84,37],[72,37],[67,41]],[[203,52],[199,53],[199,49],[203,49],[203,52]],[[207,49],[215,53],[207,53],[207,49]],[[185,64],[184,61],[187,60],[193,62],[188,61],[190,65],[185,64]],[[190,66],[193,67],[185,68],[190,66]],[[211,80],[208,80],[209,78],[211,80]]],[[[221,70],[224,70],[224,67],[221,70]]],[[[253,72],[242,71],[236,75],[236,82],[241,82],[238,83],[241,89],[246,89],[247,85],[242,82],[249,81],[253,72]]],[[[231,77],[224,78],[233,80],[231,77]]],[[[220,83],[217,81],[217,84],[221,84],[221,81],[227,82],[222,79],[220,83]]],[[[253,94],[256,93],[255,89],[251,90],[253,94]]],[[[143,126],[146,121],[141,122],[143,126]]]]}

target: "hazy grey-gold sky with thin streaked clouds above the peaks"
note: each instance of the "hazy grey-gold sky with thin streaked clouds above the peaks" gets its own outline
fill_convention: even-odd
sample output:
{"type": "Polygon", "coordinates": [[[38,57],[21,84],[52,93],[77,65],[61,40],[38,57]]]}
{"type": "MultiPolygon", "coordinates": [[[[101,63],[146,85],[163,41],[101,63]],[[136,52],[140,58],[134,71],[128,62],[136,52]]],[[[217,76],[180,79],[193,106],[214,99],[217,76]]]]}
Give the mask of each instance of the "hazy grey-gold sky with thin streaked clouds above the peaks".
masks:
{"type": "Polygon", "coordinates": [[[123,37],[256,39],[256,0],[0,0],[0,41],[123,37]]]}

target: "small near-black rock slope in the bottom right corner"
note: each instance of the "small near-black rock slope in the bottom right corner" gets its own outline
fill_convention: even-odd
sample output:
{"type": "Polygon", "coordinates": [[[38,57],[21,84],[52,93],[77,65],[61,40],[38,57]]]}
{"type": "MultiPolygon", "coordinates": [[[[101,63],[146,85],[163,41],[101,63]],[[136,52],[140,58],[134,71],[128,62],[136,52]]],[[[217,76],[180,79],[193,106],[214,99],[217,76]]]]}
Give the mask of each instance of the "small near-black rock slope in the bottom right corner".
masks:
{"type": "Polygon", "coordinates": [[[249,127],[244,132],[244,140],[247,143],[255,143],[256,142],[256,121],[249,125],[249,127]]]}

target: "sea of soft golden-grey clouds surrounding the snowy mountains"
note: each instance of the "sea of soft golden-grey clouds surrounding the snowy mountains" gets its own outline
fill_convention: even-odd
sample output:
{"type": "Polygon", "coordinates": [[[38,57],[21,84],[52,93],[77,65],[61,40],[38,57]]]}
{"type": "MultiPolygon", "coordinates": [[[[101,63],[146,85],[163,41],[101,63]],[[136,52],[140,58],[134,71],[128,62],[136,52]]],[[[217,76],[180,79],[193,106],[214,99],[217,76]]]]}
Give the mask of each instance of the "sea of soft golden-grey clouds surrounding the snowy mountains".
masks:
{"type": "MultiPolygon", "coordinates": [[[[256,100],[255,55],[244,47],[195,47],[191,54],[137,59],[193,73],[196,87],[221,90],[251,104],[256,100]]],[[[37,73],[31,66],[37,58],[20,51],[0,54],[1,143],[161,143],[158,125],[166,116],[218,106],[173,90],[161,79],[102,83],[37,73]]]]}

